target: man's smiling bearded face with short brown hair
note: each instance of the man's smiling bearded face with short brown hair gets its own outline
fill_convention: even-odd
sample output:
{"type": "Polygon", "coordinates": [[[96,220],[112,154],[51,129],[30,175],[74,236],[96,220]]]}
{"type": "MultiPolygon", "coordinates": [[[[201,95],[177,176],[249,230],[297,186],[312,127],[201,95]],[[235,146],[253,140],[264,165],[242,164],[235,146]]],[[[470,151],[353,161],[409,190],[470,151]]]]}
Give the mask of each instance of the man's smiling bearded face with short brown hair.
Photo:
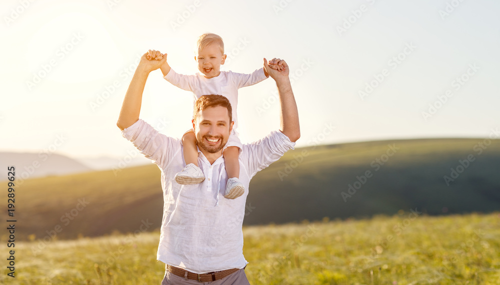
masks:
{"type": "Polygon", "coordinates": [[[229,120],[229,112],[225,107],[214,106],[201,110],[193,120],[198,147],[208,153],[221,152],[234,124],[229,120]]]}

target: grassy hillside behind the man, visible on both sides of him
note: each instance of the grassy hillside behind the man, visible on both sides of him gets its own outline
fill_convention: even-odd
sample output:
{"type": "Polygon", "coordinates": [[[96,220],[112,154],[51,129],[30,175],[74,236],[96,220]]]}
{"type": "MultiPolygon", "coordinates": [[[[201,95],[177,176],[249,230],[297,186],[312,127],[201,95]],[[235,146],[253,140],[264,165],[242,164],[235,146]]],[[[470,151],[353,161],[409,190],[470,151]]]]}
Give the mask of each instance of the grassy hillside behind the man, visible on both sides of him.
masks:
{"type": "MultiPolygon", "coordinates": [[[[410,209],[428,215],[497,211],[498,166],[500,142],[483,139],[297,148],[251,181],[245,224],[393,215],[410,209]]],[[[161,225],[162,205],[160,171],[153,164],[30,179],[15,191],[16,238],[95,237],[134,232],[145,223],[154,230],[161,225]]],[[[6,203],[0,212],[6,213],[6,203]]],[[[5,231],[0,235],[5,240],[5,231]]]]}

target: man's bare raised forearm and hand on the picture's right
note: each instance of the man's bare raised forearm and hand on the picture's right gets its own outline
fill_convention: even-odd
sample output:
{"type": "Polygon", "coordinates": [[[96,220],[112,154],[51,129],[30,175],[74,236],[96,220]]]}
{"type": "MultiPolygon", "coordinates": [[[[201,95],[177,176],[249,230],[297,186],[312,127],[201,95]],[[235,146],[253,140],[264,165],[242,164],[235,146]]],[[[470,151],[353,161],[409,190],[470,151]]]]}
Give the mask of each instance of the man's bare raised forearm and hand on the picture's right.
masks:
{"type": "Polygon", "coordinates": [[[267,65],[267,60],[264,58],[264,70],[276,81],[278,88],[281,103],[280,131],[290,141],[296,142],[300,138],[300,126],[298,123],[297,103],[293,97],[290,78],[288,77],[288,65],[279,58],[273,58],[269,61],[269,64],[273,65],[273,68],[267,65]],[[279,66],[279,68],[274,69],[276,66],[279,66]]]}

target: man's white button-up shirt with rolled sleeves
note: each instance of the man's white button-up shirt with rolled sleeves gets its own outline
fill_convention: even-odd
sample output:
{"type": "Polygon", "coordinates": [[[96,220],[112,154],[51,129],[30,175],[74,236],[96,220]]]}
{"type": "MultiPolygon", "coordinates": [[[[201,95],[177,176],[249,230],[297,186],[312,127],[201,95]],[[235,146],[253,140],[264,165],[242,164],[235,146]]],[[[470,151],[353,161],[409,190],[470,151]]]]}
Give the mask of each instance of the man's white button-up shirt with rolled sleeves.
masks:
{"type": "Polygon", "coordinates": [[[224,198],[227,173],[220,156],[210,165],[198,150],[198,165],[205,175],[200,184],[180,185],[175,174],[185,166],[180,139],[158,133],[139,119],[122,136],[161,170],[163,219],[157,260],[193,273],[243,268],[242,224],[250,179],[278,160],[291,142],[280,131],[244,144],[239,155],[241,197],[224,198]]]}

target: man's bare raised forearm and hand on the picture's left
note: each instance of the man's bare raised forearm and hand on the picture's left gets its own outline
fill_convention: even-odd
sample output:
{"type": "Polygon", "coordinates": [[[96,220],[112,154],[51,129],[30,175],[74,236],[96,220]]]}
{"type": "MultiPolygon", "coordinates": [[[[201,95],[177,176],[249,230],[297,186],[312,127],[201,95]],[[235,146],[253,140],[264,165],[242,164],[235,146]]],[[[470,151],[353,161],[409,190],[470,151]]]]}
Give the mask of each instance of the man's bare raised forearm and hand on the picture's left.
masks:
{"type": "Polygon", "coordinates": [[[140,58],[140,62],[135,68],[132,80],[128,85],[128,89],[121,105],[120,115],[116,125],[120,130],[128,128],[139,119],[140,104],[142,102],[142,92],[146,85],[146,79],[149,72],[158,69],[166,61],[166,56],[163,56],[159,51],[149,50],[140,58]],[[151,59],[147,59],[147,55],[153,55],[151,59]]]}

